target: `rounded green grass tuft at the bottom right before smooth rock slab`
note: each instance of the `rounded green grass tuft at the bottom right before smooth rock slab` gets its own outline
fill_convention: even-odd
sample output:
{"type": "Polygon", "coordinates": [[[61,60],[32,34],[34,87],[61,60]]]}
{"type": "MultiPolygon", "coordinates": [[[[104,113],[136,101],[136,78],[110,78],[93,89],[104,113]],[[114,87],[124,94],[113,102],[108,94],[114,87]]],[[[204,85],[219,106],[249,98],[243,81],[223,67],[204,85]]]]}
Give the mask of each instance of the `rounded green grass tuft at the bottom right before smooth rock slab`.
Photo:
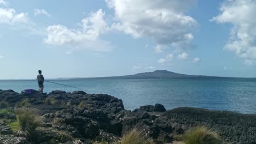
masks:
{"type": "Polygon", "coordinates": [[[185,144],[220,144],[222,140],[217,133],[208,130],[205,127],[197,127],[187,131],[182,136],[185,144]]]}

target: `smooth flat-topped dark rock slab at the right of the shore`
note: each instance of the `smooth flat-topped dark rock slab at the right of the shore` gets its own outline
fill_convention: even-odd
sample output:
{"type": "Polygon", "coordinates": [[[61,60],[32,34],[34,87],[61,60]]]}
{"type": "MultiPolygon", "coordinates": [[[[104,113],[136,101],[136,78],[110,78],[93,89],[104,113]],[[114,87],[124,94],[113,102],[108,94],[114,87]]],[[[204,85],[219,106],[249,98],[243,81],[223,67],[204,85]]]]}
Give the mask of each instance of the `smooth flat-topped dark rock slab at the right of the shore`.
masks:
{"type": "Polygon", "coordinates": [[[180,107],[163,113],[159,119],[168,119],[178,134],[191,127],[204,125],[217,131],[226,143],[256,143],[255,114],[180,107]]]}

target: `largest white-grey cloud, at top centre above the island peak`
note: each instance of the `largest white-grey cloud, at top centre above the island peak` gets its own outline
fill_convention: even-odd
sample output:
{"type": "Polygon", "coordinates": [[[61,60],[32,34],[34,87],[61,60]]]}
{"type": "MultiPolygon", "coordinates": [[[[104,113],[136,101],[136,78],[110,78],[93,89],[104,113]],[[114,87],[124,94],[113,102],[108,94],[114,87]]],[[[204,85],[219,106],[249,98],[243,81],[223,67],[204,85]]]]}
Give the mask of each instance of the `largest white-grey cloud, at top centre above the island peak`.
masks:
{"type": "Polygon", "coordinates": [[[153,38],[156,52],[162,52],[159,45],[187,49],[197,21],[184,12],[196,0],[106,0],[109,8],[114,9],[117,22],[112,28],[133,38],[153,38]]]}

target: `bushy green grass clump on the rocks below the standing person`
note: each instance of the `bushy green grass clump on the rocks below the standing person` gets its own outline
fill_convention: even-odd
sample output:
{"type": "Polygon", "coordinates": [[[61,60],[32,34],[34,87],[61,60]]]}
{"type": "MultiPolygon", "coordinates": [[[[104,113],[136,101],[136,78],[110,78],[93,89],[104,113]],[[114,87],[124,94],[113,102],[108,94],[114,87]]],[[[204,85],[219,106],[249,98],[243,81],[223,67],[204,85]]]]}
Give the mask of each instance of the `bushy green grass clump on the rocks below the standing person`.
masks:
{"type": "Polygon", "coordinates": [[[24,136],[31,138],[36,131],[36,128],[42,125],[42,121],[36,114],[36,110],[19,108],[16,109],[16,117],[19,124],[19,128],[24,136]]]}

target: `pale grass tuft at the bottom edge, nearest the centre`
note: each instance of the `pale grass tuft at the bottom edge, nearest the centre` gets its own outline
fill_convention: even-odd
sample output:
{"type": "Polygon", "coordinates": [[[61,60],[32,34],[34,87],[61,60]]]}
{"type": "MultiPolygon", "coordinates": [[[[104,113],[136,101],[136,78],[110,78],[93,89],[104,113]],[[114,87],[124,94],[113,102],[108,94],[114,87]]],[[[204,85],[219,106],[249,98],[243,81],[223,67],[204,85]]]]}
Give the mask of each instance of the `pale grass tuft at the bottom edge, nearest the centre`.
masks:
{"type": "Polygon", "coordinates": [[[133,128],[122,137],[122,140],[119,143],[120,144],[150,144],[150,143],[153,144],[154,142],[150,139],[147,139],[143,135],[143,131],[133,128]]]}

